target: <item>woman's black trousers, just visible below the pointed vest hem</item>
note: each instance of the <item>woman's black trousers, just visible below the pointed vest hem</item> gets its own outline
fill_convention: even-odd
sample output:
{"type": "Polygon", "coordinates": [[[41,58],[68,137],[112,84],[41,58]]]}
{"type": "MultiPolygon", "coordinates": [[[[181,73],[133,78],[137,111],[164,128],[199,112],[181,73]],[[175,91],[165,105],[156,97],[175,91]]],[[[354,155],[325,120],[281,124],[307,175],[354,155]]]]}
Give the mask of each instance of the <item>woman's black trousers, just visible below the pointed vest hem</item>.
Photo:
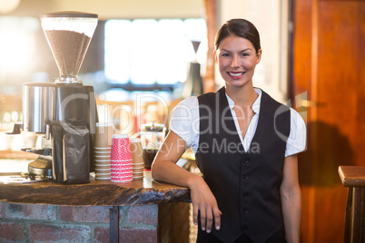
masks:
{"type": "MultiPolygon", "coordinates": [[[[202,229],[198,230],[198,238],[196,239],[197,243],[223,243],[223,241],[212,233],[207,233],[202,231],[202,229]]],[[[266,243],[285,243],[285,231],[284,228],[281,228],[278,232],[273,234],[271,238],[269,238],[266,243]]],[[[254,243],[251,238],[248,238],[245,234],[243,234],[240,238],[237,238],[234,243],[254,243]]]]}

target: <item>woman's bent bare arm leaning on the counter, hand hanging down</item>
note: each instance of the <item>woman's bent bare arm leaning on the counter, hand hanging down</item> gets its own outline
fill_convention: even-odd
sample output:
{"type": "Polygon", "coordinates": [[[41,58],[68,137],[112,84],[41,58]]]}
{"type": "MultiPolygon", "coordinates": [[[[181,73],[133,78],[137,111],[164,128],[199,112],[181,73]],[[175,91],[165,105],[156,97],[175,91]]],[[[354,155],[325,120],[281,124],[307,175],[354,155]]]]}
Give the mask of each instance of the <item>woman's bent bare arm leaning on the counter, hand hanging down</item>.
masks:
{"type": "Polygon", "coordinates": [[[170,131],[152,165],[154,180],[162,180],[168,183],[187,187],[191,190],[193,222],[198,222],[198,212],[201,214],[202,230],[209,233],[214,219],[215,228],[221,227],[221,211],[212,191],[202,179],[187,170],[176,165],[186,150],[186,142],[176,133],[170,131]]]}

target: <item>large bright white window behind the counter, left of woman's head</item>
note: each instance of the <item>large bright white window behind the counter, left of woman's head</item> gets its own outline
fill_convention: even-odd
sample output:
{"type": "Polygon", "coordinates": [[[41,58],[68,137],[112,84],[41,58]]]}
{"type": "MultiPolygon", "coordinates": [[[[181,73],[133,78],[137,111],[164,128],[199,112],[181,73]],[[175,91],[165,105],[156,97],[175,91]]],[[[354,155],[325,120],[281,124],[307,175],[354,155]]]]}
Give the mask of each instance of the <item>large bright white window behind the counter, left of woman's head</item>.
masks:
{"type": "Polygon", "coordinates": [[[190,62],[206,62],[203,19],[108,20],[105,75],[110,83],[184,82],[190,62]],[[197,53],[192,41],[201,42],[197,53]]]}

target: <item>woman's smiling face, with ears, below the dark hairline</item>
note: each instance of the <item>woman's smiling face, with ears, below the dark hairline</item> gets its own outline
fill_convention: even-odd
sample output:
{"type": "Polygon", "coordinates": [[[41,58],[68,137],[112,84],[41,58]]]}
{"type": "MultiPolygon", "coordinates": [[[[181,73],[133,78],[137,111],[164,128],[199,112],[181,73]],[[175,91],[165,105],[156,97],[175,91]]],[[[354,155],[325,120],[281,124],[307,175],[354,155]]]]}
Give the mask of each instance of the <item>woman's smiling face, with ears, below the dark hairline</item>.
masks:
{"type": "Polygon", "coordinates": [[[261,60],[261,50],[256,53],[249,40],[236,35],[224,38],[214,55],[226,85],[233,87],[252,83],[255,65],[261,60]]]}

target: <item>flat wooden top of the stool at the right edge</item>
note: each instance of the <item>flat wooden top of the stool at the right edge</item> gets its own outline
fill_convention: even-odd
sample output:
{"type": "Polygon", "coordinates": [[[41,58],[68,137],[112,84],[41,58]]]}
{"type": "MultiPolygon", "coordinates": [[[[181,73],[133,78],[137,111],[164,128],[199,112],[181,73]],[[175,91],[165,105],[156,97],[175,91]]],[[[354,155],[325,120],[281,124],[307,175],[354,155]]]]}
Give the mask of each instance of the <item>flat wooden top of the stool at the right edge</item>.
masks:
{"type": "Polygon", "coordinates": [[[339,175],[344,187],[365,187],[365,166],[340,166],[339,175]]]}

